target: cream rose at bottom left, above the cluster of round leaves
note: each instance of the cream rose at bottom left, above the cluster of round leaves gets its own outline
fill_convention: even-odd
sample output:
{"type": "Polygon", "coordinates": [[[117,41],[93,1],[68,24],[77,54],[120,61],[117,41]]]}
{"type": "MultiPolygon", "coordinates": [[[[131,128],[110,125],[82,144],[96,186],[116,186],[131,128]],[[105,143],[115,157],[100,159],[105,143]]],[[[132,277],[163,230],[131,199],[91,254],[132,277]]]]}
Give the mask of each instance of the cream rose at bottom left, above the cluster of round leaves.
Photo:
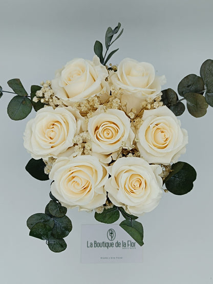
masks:
{"type": "Polygon", "coordinates": [[[52,194],[67,208],[93,210],[107,200],[104,184],[108,172],[96,157],[58,158],[49,177],[54,180],[52,194]]]}

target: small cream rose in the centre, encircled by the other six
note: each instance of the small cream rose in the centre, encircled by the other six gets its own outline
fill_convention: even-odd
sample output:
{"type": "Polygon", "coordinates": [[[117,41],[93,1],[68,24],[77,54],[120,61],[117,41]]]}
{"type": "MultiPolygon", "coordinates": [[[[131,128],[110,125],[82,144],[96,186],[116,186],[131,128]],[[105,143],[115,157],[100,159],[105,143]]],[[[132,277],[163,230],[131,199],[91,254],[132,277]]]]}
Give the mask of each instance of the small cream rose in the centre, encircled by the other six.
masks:
{"type": "Polygon", "coordinates": [[[100,154],[111,154],[122,146],[131,147],[135,137],[130,119],[124,112],[102,108],[89,119],[88,131],[92,139],[92,150],[100,154]]]}

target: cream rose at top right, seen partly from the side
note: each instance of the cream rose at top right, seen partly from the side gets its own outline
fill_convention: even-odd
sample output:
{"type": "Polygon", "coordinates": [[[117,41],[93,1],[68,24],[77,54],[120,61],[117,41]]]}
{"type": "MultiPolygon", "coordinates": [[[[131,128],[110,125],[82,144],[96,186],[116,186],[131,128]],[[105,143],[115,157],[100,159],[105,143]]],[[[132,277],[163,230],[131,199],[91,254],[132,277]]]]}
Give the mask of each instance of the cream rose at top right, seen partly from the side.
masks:
{"type": "Polygon", "coordinates": [[[147,98],[161,95],[161,85],[165,84],[165,76],[155,76],[152,64],[124,58],[118,65],[118,71],[111,73],[110,82],[123,90],[122,101],[127,103],[128,110],[141,108],[141,102],[147,98]]]}

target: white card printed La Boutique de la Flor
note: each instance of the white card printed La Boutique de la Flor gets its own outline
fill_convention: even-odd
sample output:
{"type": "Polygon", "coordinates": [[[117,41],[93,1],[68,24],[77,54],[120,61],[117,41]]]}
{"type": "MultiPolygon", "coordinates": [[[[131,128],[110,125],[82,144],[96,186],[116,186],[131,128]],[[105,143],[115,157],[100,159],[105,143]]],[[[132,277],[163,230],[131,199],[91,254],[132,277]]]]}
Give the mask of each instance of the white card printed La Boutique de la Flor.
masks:
{"type": "Polygon", "coordinates": [[[81,226],[81,263],[142,263],[134,239],[119,225],[81,226]]]}

